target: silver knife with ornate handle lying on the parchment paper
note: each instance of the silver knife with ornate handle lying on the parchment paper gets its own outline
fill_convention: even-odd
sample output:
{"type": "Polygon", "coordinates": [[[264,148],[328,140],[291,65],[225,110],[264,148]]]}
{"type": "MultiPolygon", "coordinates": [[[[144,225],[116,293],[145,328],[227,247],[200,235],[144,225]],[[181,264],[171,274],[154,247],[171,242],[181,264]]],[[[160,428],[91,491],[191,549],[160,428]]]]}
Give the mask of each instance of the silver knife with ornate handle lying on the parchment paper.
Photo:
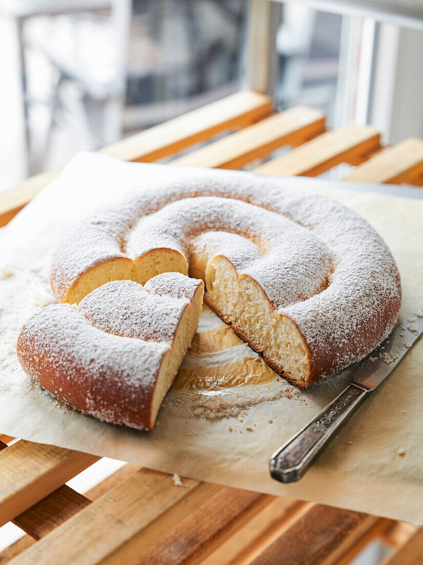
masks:
{"type": "Polygon", "coordinates": [[[423,333],[423,309],[409,316],[360,364],[351,383],[270,459],[270,475],[298,481],[365,398],[394,370],[423,333]]]}

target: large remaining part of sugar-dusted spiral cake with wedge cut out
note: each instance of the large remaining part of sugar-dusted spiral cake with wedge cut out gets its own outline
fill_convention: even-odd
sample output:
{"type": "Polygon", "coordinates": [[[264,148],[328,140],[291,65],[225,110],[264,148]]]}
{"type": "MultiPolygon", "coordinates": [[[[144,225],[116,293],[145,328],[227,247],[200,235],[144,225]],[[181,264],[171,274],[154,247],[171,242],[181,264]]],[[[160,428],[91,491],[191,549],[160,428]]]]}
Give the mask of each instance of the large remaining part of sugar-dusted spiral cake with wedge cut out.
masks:
{"type": "Polygon", "coordinates": [[[360,216],[277,179],[192,172],[126,194],[68,233],[52,262],[59,302],[177,271],[292,384],[367,355],[398,315],[398,268],[360,216]]]}

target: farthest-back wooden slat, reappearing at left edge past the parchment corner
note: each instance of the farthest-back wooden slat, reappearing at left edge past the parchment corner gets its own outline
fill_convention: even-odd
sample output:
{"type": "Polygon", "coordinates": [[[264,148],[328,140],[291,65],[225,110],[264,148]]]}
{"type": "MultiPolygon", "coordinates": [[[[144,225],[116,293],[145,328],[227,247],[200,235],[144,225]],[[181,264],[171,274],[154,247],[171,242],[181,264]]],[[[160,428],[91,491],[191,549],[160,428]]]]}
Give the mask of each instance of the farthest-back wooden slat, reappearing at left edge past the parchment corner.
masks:
{"type": "MultiPolygon", "coordinates": [[[[252,124],[268,116],[272,109],[271,98],[265,94],[243,90],[104,147],[100,152],[125,161],[151,162],[227,129],[252,124]]],[[[6,225],[59,172],[41,173],[0,193],[0,226],[6,225]]]]}

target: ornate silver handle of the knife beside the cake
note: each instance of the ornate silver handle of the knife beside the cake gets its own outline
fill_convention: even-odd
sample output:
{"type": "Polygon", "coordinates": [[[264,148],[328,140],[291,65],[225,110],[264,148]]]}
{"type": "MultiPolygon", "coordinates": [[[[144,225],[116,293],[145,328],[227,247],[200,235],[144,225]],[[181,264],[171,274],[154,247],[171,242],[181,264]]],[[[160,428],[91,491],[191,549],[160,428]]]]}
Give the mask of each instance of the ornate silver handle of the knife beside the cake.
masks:
{"type": "Polygon", "coordinates": [[[351,383],[309,421],[270,459],[270,474],[281,483],[298,481],[320,455],[332,436],[354,414],[367,393],[365,386],[351,383]]]}

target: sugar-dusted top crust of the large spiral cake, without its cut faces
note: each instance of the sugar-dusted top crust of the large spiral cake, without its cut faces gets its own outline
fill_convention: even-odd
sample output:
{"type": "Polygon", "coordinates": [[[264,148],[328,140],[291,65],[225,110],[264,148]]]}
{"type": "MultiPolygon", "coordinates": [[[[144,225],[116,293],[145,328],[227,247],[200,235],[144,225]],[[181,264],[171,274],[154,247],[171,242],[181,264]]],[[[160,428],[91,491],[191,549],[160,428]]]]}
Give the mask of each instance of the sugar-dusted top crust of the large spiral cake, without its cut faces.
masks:
{"type": "Polygon", "coordinates": [[[230,259],[296,323],[324,374],[367,355],[398,315],[398,269],[363,218],[286,180],[226,171],[184,171],[77,224],[55,255],[56,295],[107,258],[156,247],[230,259]]]}

